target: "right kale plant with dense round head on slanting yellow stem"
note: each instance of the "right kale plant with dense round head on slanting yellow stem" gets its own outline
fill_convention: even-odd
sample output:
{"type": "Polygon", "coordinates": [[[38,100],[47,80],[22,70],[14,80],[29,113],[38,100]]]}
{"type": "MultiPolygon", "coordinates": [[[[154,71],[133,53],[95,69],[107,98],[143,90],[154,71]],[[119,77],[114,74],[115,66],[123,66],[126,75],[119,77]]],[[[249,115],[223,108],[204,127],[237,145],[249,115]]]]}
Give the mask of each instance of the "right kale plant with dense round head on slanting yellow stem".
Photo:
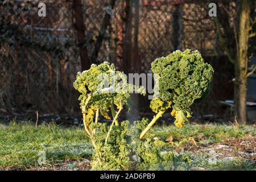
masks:
{"type": "Polygon", "coordinates": [[[199,51],[189,49],[156,59],[151,64],[151,70],[159,83],[154,88],[158,90],[159,96],[150,103],[152,111],[157,114],[140,138],[171,107],[171,115],[176,118],[175,125],[183,127],[192,115],[191,105],[207,97],[214,73],[212,66],[204,63],[199,51]]]}

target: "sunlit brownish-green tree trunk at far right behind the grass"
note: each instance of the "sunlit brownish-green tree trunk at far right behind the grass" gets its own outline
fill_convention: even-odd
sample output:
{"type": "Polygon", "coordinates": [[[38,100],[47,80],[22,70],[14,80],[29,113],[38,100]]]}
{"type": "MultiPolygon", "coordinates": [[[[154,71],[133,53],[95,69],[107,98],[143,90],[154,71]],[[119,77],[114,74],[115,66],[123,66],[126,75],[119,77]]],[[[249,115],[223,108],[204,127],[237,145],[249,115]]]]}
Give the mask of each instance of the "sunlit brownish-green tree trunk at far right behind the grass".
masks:
{"type": "Polygon", "coordinates": [[[237,61],[234,65],[236,86],[235,86],[235,114],[238,122],[246,124],[246,91],[247,91],[247,65],[248,65],[248,44],[250,28],[250,0],[241,1],[240,22],[238,32],[237,61]]]}

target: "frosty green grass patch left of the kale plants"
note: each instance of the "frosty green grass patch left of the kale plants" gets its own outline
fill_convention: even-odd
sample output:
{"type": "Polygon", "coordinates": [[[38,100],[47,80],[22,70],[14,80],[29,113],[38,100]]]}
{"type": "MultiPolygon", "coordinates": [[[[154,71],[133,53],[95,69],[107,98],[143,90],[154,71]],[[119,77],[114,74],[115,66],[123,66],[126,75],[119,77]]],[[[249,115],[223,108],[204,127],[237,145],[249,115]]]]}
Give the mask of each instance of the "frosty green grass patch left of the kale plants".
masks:
{"type": "Polygon", "coordinates": [[[0,126],[0,169],[35,166],[40,151],[46,151],[46,163],[52,160],[79,159],[92,155],[92,146],[84,130],[55,124],[35,127],[31,123],[11,122],[0,126]]]}

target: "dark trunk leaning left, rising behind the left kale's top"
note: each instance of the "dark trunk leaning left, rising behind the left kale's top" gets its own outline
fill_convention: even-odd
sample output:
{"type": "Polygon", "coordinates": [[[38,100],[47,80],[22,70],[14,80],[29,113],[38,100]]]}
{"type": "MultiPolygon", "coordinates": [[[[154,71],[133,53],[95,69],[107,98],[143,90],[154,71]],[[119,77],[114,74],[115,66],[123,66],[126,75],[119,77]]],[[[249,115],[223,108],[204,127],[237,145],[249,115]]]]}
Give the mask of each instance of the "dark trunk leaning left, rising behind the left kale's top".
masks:
{"type": "Polygon", "coordinates": [[[85,39],[85,25],[84,18],[82,16],[81,0],[73,0],[73,16],[75,18],[75,29],[80,52],[81,69],[84,71],[90,68],[90,60],[87,48],[83,45],[85,39]]]}

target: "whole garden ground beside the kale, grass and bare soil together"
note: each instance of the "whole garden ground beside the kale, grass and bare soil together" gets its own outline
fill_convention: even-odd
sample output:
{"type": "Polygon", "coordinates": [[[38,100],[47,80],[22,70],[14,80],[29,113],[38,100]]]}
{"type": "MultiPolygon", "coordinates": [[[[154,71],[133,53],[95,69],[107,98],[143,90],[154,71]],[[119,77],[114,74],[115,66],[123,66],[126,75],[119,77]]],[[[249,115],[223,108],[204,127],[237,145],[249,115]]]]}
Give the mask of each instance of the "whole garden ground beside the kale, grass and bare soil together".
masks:
{"type": "MultiPolygon", "coordinates": [[[[253,125],[155,126],[149,137],[164,152],[174,150],[181,170],[256,170],[253,125]],[[185,166],[183,160],[187,158],[185,166]]],[[[80,127],[30,122],[0,124],[0,169],[88,170],[93,147],[80,127]],[[45,152],[45,153],[44,153],[45,152]],[[42,154],[45,163],[39,164],[42,154]]]]}

